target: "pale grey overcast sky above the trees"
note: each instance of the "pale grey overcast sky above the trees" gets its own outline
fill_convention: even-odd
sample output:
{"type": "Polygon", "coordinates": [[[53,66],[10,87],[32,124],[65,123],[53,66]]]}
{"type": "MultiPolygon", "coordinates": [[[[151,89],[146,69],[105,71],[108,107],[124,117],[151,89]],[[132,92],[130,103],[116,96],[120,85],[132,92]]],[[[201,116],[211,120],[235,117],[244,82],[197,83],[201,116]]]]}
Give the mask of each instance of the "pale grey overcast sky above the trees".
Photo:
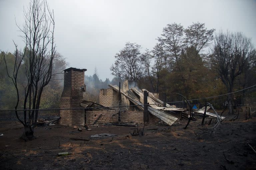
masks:
{"type": "MultiPolygon", "coordinates": [[[[98,70],[100,79],[113,78],[114,56],[126,42],[151,50],[167,24],[184,27],[202,22],[208,29],[243,32],[256,44],[256,0],[48,0],[55,15],[57,51],[69,67],[98,70]]],[[[29,0],[0,0],[0,49],[22,49],[18,25],[29,0]]]]}

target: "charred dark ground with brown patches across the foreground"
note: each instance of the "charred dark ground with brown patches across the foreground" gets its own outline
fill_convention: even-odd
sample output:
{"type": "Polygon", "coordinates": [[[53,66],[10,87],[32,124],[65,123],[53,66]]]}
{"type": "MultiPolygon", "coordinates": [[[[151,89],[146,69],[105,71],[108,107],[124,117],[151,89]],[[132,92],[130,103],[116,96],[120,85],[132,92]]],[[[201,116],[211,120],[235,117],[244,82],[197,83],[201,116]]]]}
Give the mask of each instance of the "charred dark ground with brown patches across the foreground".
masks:
{"type": "MultiPolygon", "coordinates": [[[[256,119],[223,121],[214,133],[201,119],[177,120],[145,126],[143,136],[131,136],[133,127],[90,126],[91,131],[53,125],[36,127],[33,141],[19,139],[17,121],[0,124],[0,169],[256,169],[256,119]],[[50,128],[50,129],[49,129],[50,128]],[[89,139],[90,135],[118,136],[89,139]],[[70,152],[57,156],[59,152],[70,152]]],[[[143,127],[143,124],[140,125],[143,127]]]]}

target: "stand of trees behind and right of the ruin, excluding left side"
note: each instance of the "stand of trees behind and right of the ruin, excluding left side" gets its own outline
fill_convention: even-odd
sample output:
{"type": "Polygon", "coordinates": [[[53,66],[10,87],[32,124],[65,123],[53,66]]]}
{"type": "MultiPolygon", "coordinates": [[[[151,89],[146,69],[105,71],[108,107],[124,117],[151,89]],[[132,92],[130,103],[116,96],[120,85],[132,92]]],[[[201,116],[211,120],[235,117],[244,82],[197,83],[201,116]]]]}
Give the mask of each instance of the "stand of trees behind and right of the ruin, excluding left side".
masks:
{"type": "Polygon", "coordinates": [[[157,92],[166,102],[182,100],[176,93],[188,99],[230,93],[210,101],[216,108],[230,101],[229,108],[233,108],[245,104],[242,98],[256,96],[256,51],[243,33],[215,32],[199,22],[187,28],[172,23],[156,39],[156,45],[145,51],[141,45],[127,42],[115,56],[112,75],[157,92]],[[233,93],[250,86],[253,89],[233,93]]]}

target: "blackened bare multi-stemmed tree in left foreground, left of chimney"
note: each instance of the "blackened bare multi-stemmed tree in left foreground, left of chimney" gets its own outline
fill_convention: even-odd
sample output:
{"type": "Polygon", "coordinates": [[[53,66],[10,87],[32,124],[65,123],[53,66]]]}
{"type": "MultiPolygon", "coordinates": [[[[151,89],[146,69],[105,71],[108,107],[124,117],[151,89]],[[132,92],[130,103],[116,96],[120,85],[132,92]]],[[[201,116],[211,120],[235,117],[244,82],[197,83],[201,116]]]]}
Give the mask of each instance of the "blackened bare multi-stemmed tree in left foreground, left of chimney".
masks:
{"type": "MultiPolygon", "coordinates": [[[[21,91],[24,91],[22,120],[16,111],[18,120],[24,125],[24,140],[34,139],[34,127],[37,124],[38,109],[43,89],[52,78],[52,69],[55,56],[54,42],[54,13],[49,9],[45,0],[32,0],[27,9],[24,9],[25,23],[19,27],[22,33],[20,37],[25,42],[25,48],[22,53],[16,50],[15,66],[13,72],[6,70],[8,76],[12,79],[17,92],[17,109],[20,102],[21,91]],[[26,82],[22,82],[23,89],[19,89],[17,77],[25,69],[26,82]]],[[[5,58],[4,58],[5,60],[5,58]]]]}

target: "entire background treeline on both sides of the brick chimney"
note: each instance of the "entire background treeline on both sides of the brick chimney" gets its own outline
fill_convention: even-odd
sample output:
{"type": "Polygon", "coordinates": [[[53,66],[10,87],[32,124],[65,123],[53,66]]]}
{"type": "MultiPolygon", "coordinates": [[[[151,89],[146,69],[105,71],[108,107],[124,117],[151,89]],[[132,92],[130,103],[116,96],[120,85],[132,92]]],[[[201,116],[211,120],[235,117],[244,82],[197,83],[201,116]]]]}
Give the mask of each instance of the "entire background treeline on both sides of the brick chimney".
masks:
{"type": "MultiPolygon", "coordinates": [[[[207,29],[204,23],[198,22],[187,28],[172,23],[163,28],[157,40],[151,50],[146,49],[144,52],[141,45],[127,42],[115,55],[115,61],[110,68],[114,75],[111,81],[100,80],[97,68],[92,76],[85,72],[85,99],[99,102],[99,89],[108,88],[108,84],[118,85],[119,81],[122,83],[124,80],[159,93],[160,99],[166,102],[182,100],[176,93],[195,99],[255,85],[256,51],[251,39],[243,33],[215,33],[215,29],[207,29]]],[[[60,106],[62,71],[67,68],[67,64],[64,56],[59,53],[55,55],[52,80],[43,89],[40,108],[60,106]]],[[[15,87],[6,72],[6,66],[13,70],[16,56],[19,55],[1,52],[0,109],[14,109],[16,103],[15,87]]],[[[26,81],[25,74],[24,66],[21,65],[17,79],[20,89],[23,88],[22,82],[26,81]]],[[[223,96],[216,99],[218,102],[215,106],[221,107],[229,99],[233,105],[242,104],[239,99],[246,96],[255,97],[255,90],[223,96]]],[[[196,101],[193,102],[197,104],[196,101]]],[[[22,105],[18,108],[22,108],[22,105]]]]}

